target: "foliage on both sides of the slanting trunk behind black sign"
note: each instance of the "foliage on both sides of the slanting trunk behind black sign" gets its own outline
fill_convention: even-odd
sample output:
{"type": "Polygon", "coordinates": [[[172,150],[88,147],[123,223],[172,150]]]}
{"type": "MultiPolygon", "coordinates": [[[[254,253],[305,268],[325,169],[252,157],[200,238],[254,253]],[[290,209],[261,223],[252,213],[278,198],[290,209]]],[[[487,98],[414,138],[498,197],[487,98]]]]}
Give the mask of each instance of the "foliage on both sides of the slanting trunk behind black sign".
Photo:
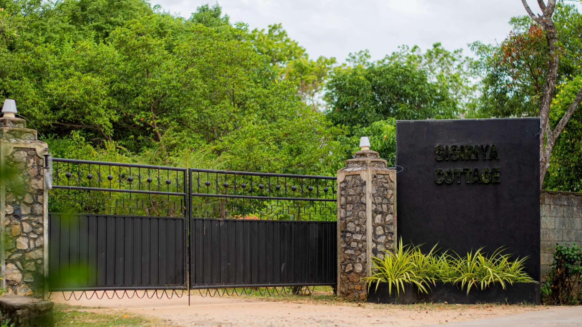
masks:
{"type": "MultiPolygon", "coordinates": [[[[549,115],[551,126],[566,112],[582,87],[582,15],[573,5],[559,2],[553,14],[559,38],[556,90],[549,115]]],[[[528,16],[513,17],[512,30],[498,45],[474,42],[480,58],[475,70],[483,76],[480,97],[467,108],[469,118],[538,116],[549,49],[545,31],[528,16]]],[[[582,191],[582,109],[574,111],[560,133],[544,179],[544,189],[582,191]]]]}

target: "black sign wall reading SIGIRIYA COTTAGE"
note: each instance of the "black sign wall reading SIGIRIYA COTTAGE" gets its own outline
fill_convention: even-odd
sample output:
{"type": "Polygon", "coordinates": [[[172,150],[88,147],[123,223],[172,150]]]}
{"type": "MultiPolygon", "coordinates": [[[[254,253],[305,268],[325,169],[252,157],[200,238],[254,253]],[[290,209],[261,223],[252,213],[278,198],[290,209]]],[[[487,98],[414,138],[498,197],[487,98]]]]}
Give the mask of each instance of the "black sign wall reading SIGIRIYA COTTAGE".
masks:
{"type": "Polygon", "coordinates": [[[397,175],[398,237],[429,249],[439,243],[459,254],[506,246],[508,253],[529,256],[527,272],[539,280],[539,131],[538,118],[397,121],[396,163],[403,168],[397,175]],[[495,144],[499,159],[483,159],[478,151],[479,159],[438,161],[439,144],[488,144],[488,150],[495,144]],[[438,168],[499,168],[499,182],[467,184],[463,172],[450,184],[438,184],[438,168]]]}

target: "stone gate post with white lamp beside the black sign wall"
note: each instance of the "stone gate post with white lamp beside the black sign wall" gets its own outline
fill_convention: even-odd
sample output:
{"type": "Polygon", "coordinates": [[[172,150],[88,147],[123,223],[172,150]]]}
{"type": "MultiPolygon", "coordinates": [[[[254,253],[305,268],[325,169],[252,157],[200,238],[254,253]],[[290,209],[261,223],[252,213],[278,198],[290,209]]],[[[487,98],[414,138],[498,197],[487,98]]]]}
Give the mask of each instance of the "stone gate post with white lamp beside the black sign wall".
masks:
{"type": "Polygon", "coordinates": [[[388,168],[367,137],[338,170],[338,296],[365,300],[361,278],[371,275],[371,256],[396,243],[396,170],[388,168]]]}

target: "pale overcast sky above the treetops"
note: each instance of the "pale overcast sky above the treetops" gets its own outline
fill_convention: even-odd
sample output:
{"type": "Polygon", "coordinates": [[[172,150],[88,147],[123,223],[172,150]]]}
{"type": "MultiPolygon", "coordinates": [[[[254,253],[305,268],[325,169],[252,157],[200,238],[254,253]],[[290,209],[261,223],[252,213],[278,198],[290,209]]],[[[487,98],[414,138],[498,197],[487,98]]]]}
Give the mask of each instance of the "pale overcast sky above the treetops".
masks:
{"type": "MultiPolygon", "coordinates": [[[[537,8],[537,2],[530,0],[537,8]]],[[[190,17],[201,0],[151,0],[165,11],[190,17]]],[[[509,19],[526,12],[520,0],[221,0],[230,22],[251,29],[282,23],[289,36],[312,58],[335,56],[343,62],[350,52],[369,49],[373,59],[399,45],[434,42],[446,49],[463,48],[474,41],[501,42],[509,32],[509,19]]]]}

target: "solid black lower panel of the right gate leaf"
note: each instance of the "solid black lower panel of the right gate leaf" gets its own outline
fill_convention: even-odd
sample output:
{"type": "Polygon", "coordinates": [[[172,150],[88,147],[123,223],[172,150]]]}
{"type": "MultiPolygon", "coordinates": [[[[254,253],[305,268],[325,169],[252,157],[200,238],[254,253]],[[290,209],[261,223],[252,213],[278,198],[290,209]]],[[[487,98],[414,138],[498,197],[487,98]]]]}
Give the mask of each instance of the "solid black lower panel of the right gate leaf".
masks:
{"type": "Polygon", "coordinates": [[[190,289],[335,285],[335,225],[193,218],[190,289]]]}

